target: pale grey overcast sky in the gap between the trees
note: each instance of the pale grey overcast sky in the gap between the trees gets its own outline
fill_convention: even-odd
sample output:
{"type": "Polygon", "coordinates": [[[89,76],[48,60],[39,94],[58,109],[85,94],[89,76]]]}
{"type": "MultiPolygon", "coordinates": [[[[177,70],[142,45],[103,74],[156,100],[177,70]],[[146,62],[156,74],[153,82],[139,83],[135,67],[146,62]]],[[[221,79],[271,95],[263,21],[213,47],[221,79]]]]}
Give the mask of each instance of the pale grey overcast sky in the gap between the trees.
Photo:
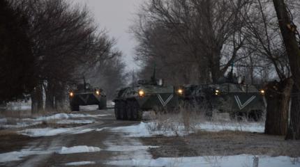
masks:
{"type": "Polygon", "coordinates": [[[145,0],[68,0],[73,3],[84,3],[93,13],[100,29],[106,29],[110,37],[117,40],[117,48],[125,55],[126,70],[137,69],[133,61],[134,47],[137,42],[128,33],[133,24],[133,17],[138,7],[145,0]]]}

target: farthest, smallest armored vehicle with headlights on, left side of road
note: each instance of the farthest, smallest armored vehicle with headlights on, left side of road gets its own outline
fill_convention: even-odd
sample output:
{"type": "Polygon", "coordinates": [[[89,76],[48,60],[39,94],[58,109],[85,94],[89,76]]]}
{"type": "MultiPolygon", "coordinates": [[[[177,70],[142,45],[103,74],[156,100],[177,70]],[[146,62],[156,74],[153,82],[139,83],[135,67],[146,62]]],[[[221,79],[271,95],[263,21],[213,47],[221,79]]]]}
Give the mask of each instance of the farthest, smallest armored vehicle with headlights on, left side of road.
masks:
{"type": "Polygon", "coordinates": [[[98,109],[106,108],[106,95],[102,89],[92,88],[84,79],[84,84],[78,84],[75,89],[70,90],[71,111],[80,111],[80,106],[98,105],[98,109]]]}

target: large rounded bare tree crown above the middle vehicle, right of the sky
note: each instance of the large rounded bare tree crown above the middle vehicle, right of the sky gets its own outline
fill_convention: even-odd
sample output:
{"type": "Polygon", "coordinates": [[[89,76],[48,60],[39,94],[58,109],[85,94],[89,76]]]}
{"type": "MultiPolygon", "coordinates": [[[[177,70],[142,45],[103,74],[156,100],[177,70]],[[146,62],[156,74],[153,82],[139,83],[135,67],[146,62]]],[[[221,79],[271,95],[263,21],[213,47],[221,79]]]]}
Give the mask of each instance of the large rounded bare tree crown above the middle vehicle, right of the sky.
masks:
{"type": "Polygon", "coordinates": [[[137,59],[155,61],[167,72],[186,69],[177,75],[187,82],[193,82],[188,78],[194,79],[189,74],[195,73],[197,83],[217,81],[238,58],[245,41],[237,13],[246,6],[246,1],[151,0],[133,29],[140,42],[137,59]]]}

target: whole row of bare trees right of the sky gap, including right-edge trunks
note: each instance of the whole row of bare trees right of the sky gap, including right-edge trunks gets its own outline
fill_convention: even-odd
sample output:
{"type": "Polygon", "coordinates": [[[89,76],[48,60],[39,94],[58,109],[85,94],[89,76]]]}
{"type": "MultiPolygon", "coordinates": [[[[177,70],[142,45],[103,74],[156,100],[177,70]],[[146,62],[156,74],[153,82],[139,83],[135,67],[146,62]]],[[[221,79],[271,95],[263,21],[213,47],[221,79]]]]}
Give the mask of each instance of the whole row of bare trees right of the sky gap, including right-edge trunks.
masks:
{"type": "Polygon", "coordinates": [[[140,76],[156,64],[168,84],[216,83],[234,64],[265,85],[266,134],[300,138],[299,11],[300,1],[149,0],[131,28],[140,76]]]}

